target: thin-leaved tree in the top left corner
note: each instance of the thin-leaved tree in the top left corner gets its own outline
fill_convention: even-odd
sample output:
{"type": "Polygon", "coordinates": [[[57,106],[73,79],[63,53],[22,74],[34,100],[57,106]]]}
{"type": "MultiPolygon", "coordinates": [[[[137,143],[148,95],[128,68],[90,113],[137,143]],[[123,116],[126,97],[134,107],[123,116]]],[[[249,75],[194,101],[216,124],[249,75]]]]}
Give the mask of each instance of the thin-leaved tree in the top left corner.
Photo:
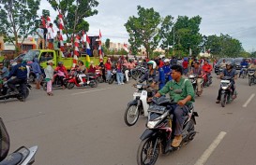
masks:
{"type": "MultiPolygon", "coordinates": [[[[0,34],[19,51],[18,39],[33,34],[38,27],[40,0],[0,0],[0,34]]],[[[23,44],[23,41],[21,44],[23,44]]]]}

